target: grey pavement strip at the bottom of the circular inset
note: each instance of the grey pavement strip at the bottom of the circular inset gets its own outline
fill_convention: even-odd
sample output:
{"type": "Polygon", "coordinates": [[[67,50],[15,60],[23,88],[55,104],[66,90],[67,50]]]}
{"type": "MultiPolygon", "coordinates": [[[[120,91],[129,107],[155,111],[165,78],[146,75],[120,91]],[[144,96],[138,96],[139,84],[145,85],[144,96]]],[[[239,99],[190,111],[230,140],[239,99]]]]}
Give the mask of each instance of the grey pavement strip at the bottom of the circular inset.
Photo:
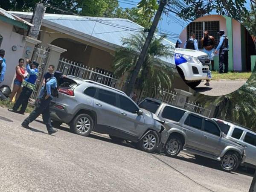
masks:
{"type": "Polygon", "coordinates": [[[209,96],[222,96],[238,90],[246,81],[210,81],[210,86],[206,87],[206,81],[202,81],[195,91],[209,96]]]}

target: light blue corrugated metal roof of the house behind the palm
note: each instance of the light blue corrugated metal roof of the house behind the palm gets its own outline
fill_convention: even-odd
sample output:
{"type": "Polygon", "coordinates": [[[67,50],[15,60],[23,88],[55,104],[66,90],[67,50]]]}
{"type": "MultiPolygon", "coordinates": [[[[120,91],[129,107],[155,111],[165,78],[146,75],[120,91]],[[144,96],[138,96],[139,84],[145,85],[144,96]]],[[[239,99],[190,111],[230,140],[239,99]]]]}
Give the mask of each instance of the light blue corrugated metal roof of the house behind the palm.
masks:
{"type": "MultiPolygon", "coordinates": [[[[29,12],[12,13],[20,17],[22,15],[26,17],[32,16],[32,13],[29,12]]],[[[144,29],[131,20],[121,18],[44,14],[44,20],[61,25],[67,29],[73,29],[76,31],[75,34],[91,35],[94,38],[117,46],[122,46],[122,38],[128,38],[131,34],[139,33],[140,30],[144,29]]],[[[74,33],[70,32],[70,35],[72,34],[74,33]]],[[[164,40],[163,43],[175,47],[175,44],[171,41],[164,40]]],[[[174,64],[174,58],[161,58],[161,60],[174,64]]]]}

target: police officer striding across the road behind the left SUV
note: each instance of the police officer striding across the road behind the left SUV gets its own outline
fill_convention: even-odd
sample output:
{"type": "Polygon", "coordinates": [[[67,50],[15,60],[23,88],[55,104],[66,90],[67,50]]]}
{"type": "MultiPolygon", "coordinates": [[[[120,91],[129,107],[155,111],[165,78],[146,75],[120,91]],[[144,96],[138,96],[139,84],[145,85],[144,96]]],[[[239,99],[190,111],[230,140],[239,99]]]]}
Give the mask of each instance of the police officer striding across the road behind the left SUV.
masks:
{"type": "Polygon", "coordinates": [[[36,105],[34,111],[32,111],[29,116],[22,122],[22,127],[31,129],[29,127],[29,123],[34,121],[40,114],[42,114],[48,134],[54,134],[58,131],[57,129],[53,129],[51,125],[50,102],[53,97],[58,96],[58,94],[56,95],[55,91],[58,87],[58,81],[61,78],[63,78],[62,73],[55,71],[54,76],[50,79],[47,79],[46,84],[41,88],[38,104],[36,105]]]}

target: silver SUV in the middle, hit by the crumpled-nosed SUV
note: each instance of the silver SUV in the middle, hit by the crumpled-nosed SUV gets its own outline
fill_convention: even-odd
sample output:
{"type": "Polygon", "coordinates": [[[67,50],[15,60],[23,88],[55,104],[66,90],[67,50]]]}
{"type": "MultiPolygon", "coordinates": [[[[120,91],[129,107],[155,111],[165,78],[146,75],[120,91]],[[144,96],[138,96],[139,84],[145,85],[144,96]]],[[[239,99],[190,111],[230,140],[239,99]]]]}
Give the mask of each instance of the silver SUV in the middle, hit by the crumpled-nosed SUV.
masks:
{"type": "Polygon", "coordinates": [[[196,158],[202,156],[219,161],[226,172],[234,171],[244,162],[244,148],[227,140],[212,119],[151,98],[144,99],[139,106],[154,112],[165,122],[168,139],[164,151],[167,156],[176,157],[181,150],[186,150],[196,158]]]}

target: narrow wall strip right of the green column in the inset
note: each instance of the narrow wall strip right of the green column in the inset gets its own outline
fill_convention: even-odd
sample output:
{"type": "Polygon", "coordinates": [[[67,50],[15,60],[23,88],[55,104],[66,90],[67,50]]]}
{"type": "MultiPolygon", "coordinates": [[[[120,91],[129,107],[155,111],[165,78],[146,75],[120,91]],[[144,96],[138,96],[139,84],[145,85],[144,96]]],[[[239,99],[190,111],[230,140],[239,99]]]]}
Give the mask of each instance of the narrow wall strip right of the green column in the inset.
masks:
{"type": "Polygon", "coordinates": [[[241,59],[241,26],[240,23],[232,19],[233,27],[233,69],[234,71],[242,70],[241,59]]]}

